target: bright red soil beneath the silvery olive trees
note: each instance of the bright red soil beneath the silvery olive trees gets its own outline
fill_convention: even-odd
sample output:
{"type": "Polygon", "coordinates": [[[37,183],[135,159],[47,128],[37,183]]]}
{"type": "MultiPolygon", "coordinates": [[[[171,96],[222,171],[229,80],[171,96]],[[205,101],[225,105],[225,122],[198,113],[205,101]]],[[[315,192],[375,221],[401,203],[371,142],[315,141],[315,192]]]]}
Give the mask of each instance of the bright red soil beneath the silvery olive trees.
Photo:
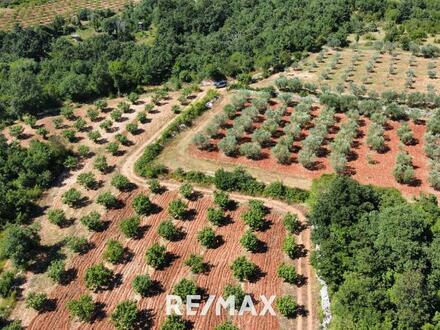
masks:
{"type": "MultiPolygon", "coordinates": [[[[288,109],[285,120],[289,120],[290,114],[293,112],[292,109],[288,109]]],[[[312,115],[319,115],[319,111],[316,109],[312,111],[312,115]]],[[[261,116],[264,117],[264,116],[261,116]]],[[[292,177],[301,177],[314,179],[320,177],[322,174],[333,173],[328,161],[328,154],[330,152],[329,143],[333,140],[341,123],[345,120],[345,115],[336,114],[337,123],[330,129],[327,135],[326,141],[322,145],[322,151],[324,151],[324,156],[317,158],[316,167],[313,170],[304,168],[297,161],[298,151],[301,148],[302,140],[307,136],[308,129],[303,133],[303,138],[300,141],[294,142],[294,152],[292,152],[290,164],[279,164],[276,158],[271,153],[270,147],[262,148],[262,157],[259,160],[247,159],[245,156],[229,157],[219,151],[217,148],[217,143],[221,140],[222,134],[219,138],[211,139],[211,143],[214,146],[212,150],[199,150],[194,145],[189,146],[189,153],[192,156],[214,160],[219,163],[231,163],[237,165],[244,165],[246,167],[261,168],[265,170],[270,170],[278,172],[280,174],[286,174],[292,177]],[[327,155],[326,155],[327,154],[327,155]]],[[[261,118],[264,119],[264,118],[261,118]]],[[[230,122],[231,123],[231,122],[230,122]]],[[[313,123],[313,120],[312,120],[313,123]]],[[[440,192],[435,191],[430,187],[427,178],[429,174],[429,162],[424,152],[424,134],[426,131],[426,126],[424,124],[414,124],[410,123],[409,126],[413,131],[413,135],[417,140],[417,144],[411,146],[404,146],[404,149],[410,153],[413,157],[413,164],[415,168],[415,174],[417,179],[417,184],[415,185],[404,185],[396,182],[393,177],[393,168],[395,164],[396,155],[399,152],[399,137],[397,136],[396,130],[400,127],[398,122],[388,121],[389,129],[385,132],[386,145],[389,150],[385,153],[377,153],[369,149],[366,145],[367,131],[370,121],[368,118],[362,117],[361,127],[359,129],[360,135],[355,140],[354,147],[352,148],[354,157],[348,162],[348,171],[353,177],[363,184],[373,184],[381,187],[393,187],[401,191],[405,196],[417,196],[421,192],[432,193],[440,197],[440,192]],[[370,159],[370,163],[368,161],[370,159]],[[374,160],[372,164],[371,160],[374,160]]],[[[255,123],[254,128],[257,128],[261,123],[255,123]]],[[[310,128],[309,128],[310,129],[310,128]]],[[[224,130],[220,131],[224,133],[224,130]]],[[[282,132],[280,131],[282,134],[282,132]]],[[[246,133],[241,142],[250,141],[249,133],[246,133]]],[[[274,138],[273,142],[276,143],[278,138],[274,138]]]]}

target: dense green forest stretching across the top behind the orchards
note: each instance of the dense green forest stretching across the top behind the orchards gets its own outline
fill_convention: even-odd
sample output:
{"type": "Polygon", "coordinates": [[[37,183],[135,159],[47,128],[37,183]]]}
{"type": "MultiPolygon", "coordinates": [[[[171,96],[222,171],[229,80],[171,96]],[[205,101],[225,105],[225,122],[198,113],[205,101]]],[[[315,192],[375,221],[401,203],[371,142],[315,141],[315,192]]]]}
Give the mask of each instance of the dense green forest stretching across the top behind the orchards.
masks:
{"type": "Polygon", "coordinates": [[[120,14],[81,10],[49,26],[0,32],[0,114],[15,119],[64,100],[124,93],[170,78],[193,81],[280,70],[303,52],[345,46],[384,25],[407,44],[440,31],[436,0],[142,0],[120,14]],[[69,35],[86,24],[97,33],[69,35]],[[148,42],[139,42],[143,30],[148,42]]]}

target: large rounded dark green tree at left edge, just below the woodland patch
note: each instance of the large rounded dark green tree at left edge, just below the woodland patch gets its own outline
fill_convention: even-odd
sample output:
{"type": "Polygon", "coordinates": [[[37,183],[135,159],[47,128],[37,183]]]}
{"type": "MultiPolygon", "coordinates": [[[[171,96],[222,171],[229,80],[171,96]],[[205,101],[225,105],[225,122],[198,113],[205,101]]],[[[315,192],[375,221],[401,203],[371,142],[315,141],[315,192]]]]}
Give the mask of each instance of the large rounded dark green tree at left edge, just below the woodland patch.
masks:
{"type": "Polygon", "coordinates": [[[0,257],[9,258],[17,267],[26,268],[39,248],[40,236],[34,227],[8,225],[1,234],[0,257]]]}

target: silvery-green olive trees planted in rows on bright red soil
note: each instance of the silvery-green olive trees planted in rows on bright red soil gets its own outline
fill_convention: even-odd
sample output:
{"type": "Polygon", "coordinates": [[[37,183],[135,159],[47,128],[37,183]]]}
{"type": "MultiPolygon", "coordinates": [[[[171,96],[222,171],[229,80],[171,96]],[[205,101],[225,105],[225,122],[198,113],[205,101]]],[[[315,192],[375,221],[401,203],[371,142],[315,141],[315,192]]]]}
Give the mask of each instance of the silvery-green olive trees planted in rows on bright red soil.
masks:
{"type": "MultiPolygon", "coordinates": [[[[280,80],[277,81],[278,86],[284,90],[289,89],[286,85],[298,83],[295,79],[293,83],[292,80],[286,82],[285,78],[280,80]]],[[[411,115],[415,124],[422,124],[420,113],[414,109],[396,102],[387,105],[372,99],[357,102],[356,97],[322,94],[320,100],[325,107],[314,117],[310,97],[300,97],[297,103],[293,94],[284,92],[279,94],[279,100],[281,104],[274,106],[267,92],[251,94],[250,91],[240,91],[223,113],[212,119],[204,132],[195,134],[193,143],[200,150],[213,151],[218,148],[226,156],[239,154],[253,160],[267,157],[264,150],[271,148],[275,159],[286,165],[292,162],[292,154],[297,153],[296,161],[304,168],[313,170],[316,169],[317,158],[325,155],[324,145],[333,140],[329,143],[330,165],[337,173],[347,173],[347,163],[353,158],[353,145],[360,139],[359,122],[362,115],[371,121],[365,142],[370,150],[378,153],[386,153],[389,149],[385,136],[388,120],[400,121],[396,133],[401,142],[401,151],[396,156],[393,175],[399,183],[416,182],[411,156],[404,150],[405,145],[418,143],[407,123],[411,115]],[[295,109],[292,110],[290,107],[294,104],[295,109]],[[329,133],[336,125],[335,109],[345,113],[342,118],[338,117],[342,121],[338,124],[339,131],[329,140],[329,133]]],[[[438,125],[439,111],[434,110],[433,113],[428,127],[438,125]]],[[[425,149],[433,160],[429,183],[439,189],[439,170],[434,165],[438,153],[436,134],[430,133],[428,128],[425,149]]]]}

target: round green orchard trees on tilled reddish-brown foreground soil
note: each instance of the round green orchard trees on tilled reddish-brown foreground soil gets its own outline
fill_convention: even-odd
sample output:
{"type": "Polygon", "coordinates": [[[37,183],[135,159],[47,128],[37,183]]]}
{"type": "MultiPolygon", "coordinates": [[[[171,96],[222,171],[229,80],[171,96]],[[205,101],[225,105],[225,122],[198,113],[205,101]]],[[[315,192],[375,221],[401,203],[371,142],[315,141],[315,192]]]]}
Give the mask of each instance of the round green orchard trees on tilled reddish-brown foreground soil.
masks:
{"type": "MultiPolygon", "coordinates": [[[[113,182],[115,179],[112,180],[113,182]]],[[[125,187],[128,184],[125,184],[125,187]]],[[[122,187],[118,185],[118,188],[122,187]]],[[[161,193],[163,188],[156,180],[150,181],[150,190],[152,193],[161,193]]],[[[189,210],[186,201],[191,201],[197,198],[197,192],[189,184],[184,184],[179,189],[182,198],[174,199],[168,204],[169,218],[163,220],[157,227],[157,233],[166,241],[180,241],[184,239],[185,233],[181,230],[178,223],[187,219],[188,214],[193,211],[189,210]],[[185,201],[186,200],[186,201],[185,201]]],[[[72,207],[77,207],[75,204],[71,204],[71,200],[65,199],[66,203],[72,207]]],[[[117,207],[119,201],[106,204],[107,208],[117,207]]],[[[223,191],[216,191],[214,193],[215,207],[208,209],[207,220],[210,225],[205,226],[197,233],[197,240],[199,244],[207,249],[216,249],[221,243],[221,239],[217,236],[215,228],[219,226],[227,226],[227,212],[237,207],[237,203],[229,198],[229,195],[223,191]]],[[[119,223],[119,228],[122,234],[128,239],[140,239],[141,234],[141,217],[146,217],[152,214],[156,208],[153,202],[145,194],[139,194],[134,197],[132,208],[136,212],[135,216],[126,218],[119,223]]],[[[266,252],[265,242],[261,241],[257,233],[264,231],[268,228],[269,223],[266,220],[268,209],[261,201],[250,200],[247,210],[241,214],[241,220],[246,224],[248,229],[243,233],[240,238],[240,244],[249,253],[261,253],[266,252]]],[[[48,218],[51,222],[62,226],[66,221],[64,214],[61,210],[49,210],[48,218]]],[[[91,231],[105,230],[104,222],[101,220],[101,215],[97,212],[92,212],[89,215],[83,217],[81,223],[85,225],[91,231]]],[[[299,234],[303,229],[303,225],[300,223],[298,217],[294,214],[287,213],[283,219],[284,227],[287,231],[287,236],[284,239],[282,245],[284,253],[291,259],[303,257],[306,253],[302,245],[298,245],[295,242],[293,235],[299,234]]],[[[37,242],[35,242],[37,244],[37,242]]],[[[66,239],[67,247],[74,253],[83,254],[86,253],[90,247],[87,240],[81,237],[70,237],[66,239]]],[[[127,261],[127,255],[129,251],[118,240],[110,239],[105,244],[105,249],[102,254],[104,262],[110,264],[121,264],[129,262],[127,261]]],[[[170,255],[168,254],[166,247],[159,243],[152,244],[145,253],[146,263],[154,269],[167,268],[172,262],[170,255]]],[[[14,260],[13,260],[14,261],[14,260]]],[[[189,267],[193,274],[207,274],[209,273],[209,266],[203,260],[203,256],[191,254],[184,264],[189,267]]],[[[260,268],[258,265],[250,261],[245,256],[237,257],[230,265],[233,276],[240,282],[250,281],[255,282],[261,277],[260,268]]],[[[72,279],[69,277],[71,270],[66,269],[65,262],[62,260],[54,260],[50,263],[47,275],[60,285],[66,285],[72,279]]],[[[295,267],[287,263],[279,265],[277,270],[278,276],[286,283],[291,285],[301,285],[302,275],[296,273],[295,267]]],[[[85,286],[92,292],[98,292],[102,290],[109,290],[114,283],[115,274],[107,268],[104,263],[97,263],[86,269],[84,275],[85,286]]],[[[7,288],[7,283],[12,283],[13,274],[4,273],[0,279],[1,286],[7,294],[10,293],[12,287],[7,288]],[[9,282],[8,279],[12,278],[9,282]]],[[[139,294],[141,297],[152,297],[158,293],[158,288],[161,287],[161,283],[153,280],[148,274],[141,274],[134,277],[132,281],[133,291],[139,294]]],[[[197,287],[193,280],[186,278],[181,279],[172,288],[172,294],[180,296],[183,301],[186,300],[187,295],[196,295],[200,292],[200,288],[197,287]]],[[[228,284],[224,288],[225,297],[235,297],[235,307],[237,310],[243,302],[245,292],[240,285],[228,284]]],[[[48,296],[45,293],[30,292],[26,297],[26,306],[32,308],[38,312],[44,312],[48,306],[48,296]]],[[[277,298],[275,307],[285,317],[296,317],[297,315],[297,303],[294,297],[290,295],[284,295],[277,298]]],[[[70,311],[71,316],[80,322],[92,322],[96,317],[97,306],[90,294],[83,294],[78,299],[71,300],[67,303],[67,308],[70,311]]],[[[136,301],[123,301],[120,302],[115,310],[111,314],[111,320],[116,329],[131,329],[138,323],[139,311],[136,307],[136,301]]],[[[168,317],[162,329],[175,329],[176,326],[185,325],[185,320],[178,316],[168,317]]],[[[226,325],[231,326],[227,323],[226,325]]],[[[221,325],[216,329],[224,329],[221,325]]],[[[227,328],[229,329],[229,328],[227,328]]],[[[233,327],[233,329],[237,329],[233,327]]]]}

